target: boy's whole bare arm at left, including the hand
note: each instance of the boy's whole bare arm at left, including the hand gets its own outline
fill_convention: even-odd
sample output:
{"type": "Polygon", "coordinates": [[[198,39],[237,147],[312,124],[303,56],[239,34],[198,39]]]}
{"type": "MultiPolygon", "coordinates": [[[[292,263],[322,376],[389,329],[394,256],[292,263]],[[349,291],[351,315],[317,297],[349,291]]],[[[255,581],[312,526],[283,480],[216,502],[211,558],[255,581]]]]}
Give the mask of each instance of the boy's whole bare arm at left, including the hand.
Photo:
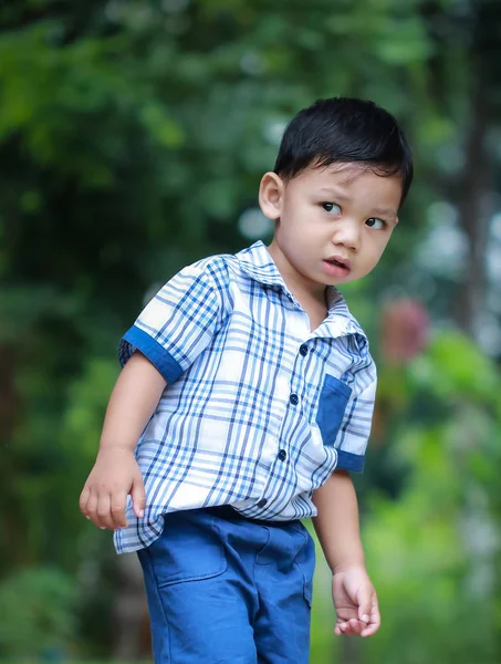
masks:
{"type": "Polygon", "coordinates": [[[128,494],[136,516],[144,513],[146,496],[134,450],[166,384],[138,352],[118,376],[106,409],[97,458],[80,497],[80,509],[100,528],[115,530],[127,525],[128,494]]]}

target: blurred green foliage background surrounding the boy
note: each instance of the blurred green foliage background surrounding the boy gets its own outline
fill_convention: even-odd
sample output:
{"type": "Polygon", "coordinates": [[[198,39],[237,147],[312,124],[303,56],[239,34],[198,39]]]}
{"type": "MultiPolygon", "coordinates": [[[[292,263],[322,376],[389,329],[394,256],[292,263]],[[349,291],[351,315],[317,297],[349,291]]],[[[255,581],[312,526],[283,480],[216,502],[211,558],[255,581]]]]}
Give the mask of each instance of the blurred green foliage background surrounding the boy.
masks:
{"type": "Polygon", "coordinates": [[[313,664],[501,661],[501,3],[0,4],[0,661],[148,661],[134,556],[85,521],[116,346],[180,267],[267,241],[285,123],[356,95],[416,181],[383,263],[344,289],[379,366],[357,478],[383,627],[313,664]]]}

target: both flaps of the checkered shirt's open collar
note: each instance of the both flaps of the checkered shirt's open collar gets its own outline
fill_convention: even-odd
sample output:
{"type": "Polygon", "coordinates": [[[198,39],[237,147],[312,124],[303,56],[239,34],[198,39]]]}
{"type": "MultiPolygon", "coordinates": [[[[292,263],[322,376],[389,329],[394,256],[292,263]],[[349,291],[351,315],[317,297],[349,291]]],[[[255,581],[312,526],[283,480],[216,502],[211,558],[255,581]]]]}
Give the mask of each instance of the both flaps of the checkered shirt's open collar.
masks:
{"type": "MultiPolygon", "coordinates": [[[[267,246],[261,240],[239,251],[237,258],[242,272],[246,272],[246,274],[249,274],[249,277],[260,283],[281,287],[296,307],[301,308],[301,304],[289,291],[279,268],[271,258],[267,246]]],[[[349,312],[348,305],[340,291],[335,287],[328,286],[326,293],[328,313],[325,321],[319,328],[319,331],[323,332],[322,335],[325,335],[325,332],[333,336],[355,334],[362,336],[362,343],[366,342],[363,329],[349,312]],[[322,330],[324,325],[327,326],[327,330],[322,330]]]]}

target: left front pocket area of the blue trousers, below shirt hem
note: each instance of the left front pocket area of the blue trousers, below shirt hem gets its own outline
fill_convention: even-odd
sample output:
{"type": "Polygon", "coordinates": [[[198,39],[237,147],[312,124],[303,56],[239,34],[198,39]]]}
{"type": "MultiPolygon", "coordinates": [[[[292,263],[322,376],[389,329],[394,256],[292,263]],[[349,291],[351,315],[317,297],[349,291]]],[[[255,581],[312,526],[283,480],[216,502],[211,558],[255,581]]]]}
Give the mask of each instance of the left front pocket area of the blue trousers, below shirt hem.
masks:
{"type": "Polygon", "coordinates": [[[219,529],[213,516],[203,509],[166,515],[164,531],[148,552],[159,589],[211,579],[227,568],[219,529]]]}

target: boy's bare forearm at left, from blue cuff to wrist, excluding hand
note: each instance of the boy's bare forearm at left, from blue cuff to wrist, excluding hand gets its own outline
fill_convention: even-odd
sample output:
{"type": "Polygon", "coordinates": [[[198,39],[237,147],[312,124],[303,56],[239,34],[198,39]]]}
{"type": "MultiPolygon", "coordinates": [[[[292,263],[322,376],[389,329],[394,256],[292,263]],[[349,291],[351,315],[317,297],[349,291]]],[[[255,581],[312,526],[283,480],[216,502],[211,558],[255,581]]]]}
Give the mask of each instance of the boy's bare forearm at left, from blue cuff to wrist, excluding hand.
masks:
{"type": "Polygon", "coordinates": [[[100,452],[114,448],[134,452],[165,386],[165,378],[149,360],[134,353],[109,397],[100,452]]]}

